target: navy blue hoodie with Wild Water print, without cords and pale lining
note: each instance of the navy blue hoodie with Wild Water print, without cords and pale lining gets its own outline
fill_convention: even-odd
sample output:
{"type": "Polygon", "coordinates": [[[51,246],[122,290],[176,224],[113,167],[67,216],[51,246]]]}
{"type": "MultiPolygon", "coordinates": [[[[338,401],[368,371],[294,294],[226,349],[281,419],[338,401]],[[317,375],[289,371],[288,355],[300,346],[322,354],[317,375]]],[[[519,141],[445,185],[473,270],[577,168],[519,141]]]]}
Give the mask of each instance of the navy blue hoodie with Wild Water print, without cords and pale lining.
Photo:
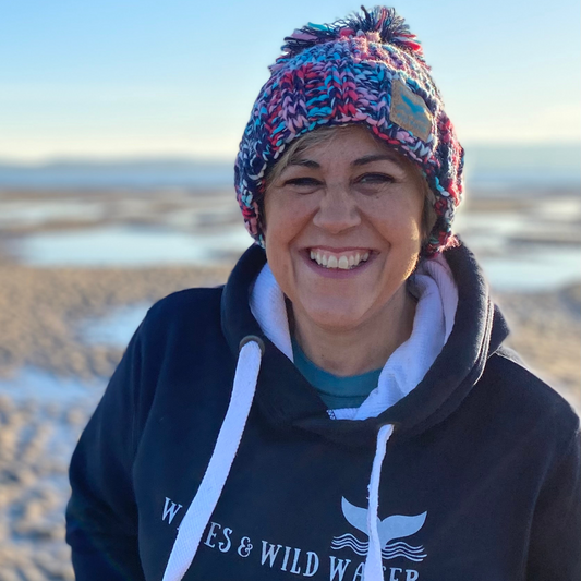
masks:
{"type": "Polygon", "coordinates": [[[331,420],[252,316],[262,249],[223,288],[153,306],[72,459],[76,579],[161,580],[249,335],[265,343],[254,403],[185,580],[361,580],[367,538],[358,522],[388,423],[386,580],[581,579],[579,420],[501,347],[508,331],[471,253],[445,256],[459,293],[453,330],[421,384],[365,421],[331,420]],[[415,522],[404,538],[389,533],[399,516],[415,522]]]}

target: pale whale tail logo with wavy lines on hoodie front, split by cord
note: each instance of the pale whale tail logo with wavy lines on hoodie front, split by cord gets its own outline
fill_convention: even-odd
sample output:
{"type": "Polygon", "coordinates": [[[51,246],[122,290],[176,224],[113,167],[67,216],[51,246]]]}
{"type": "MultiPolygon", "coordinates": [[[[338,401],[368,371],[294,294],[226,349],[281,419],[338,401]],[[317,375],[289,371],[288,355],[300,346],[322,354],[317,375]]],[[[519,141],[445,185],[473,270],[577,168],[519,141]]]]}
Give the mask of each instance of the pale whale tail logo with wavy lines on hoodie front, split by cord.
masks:
{"type": "MultiPolygon", "coordinates": [[[[367,509],[352,505],[347,498],[342,498],[341,508],[347,522],[358,531],[370,536],[367,528],[367,509]]],[[[400,538],[415,534],[424,525],[427,512],[415,516],[392,515],[384,520],[377,519],[377,530],[382,544],[382,555],[384,559],[395,559],[406,557],[415,562],[424,560],[426,554],[423,546],[412,546],[400,538]]],[[[349,547],[358,555],[366,555],[370,543],[361,542],[350,533],[336,536],[332,540],[331,548],[339,550],[349,547]]]]}

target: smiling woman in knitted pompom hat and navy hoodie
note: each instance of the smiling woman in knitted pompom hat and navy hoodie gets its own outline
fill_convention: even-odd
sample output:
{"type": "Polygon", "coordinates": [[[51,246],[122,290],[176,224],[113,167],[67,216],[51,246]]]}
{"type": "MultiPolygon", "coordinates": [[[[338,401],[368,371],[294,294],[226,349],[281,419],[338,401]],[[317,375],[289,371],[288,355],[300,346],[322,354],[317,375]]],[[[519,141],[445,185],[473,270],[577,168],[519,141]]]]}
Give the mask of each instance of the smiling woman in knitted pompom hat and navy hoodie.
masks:
{"type": "Polygon", "coordinates": [[[77,579],[579,579],[579,421],[451,233],[420,45],[384,8],[286,41],[237,159],[257,244],[149,311],[73,457],[77,579]]]}

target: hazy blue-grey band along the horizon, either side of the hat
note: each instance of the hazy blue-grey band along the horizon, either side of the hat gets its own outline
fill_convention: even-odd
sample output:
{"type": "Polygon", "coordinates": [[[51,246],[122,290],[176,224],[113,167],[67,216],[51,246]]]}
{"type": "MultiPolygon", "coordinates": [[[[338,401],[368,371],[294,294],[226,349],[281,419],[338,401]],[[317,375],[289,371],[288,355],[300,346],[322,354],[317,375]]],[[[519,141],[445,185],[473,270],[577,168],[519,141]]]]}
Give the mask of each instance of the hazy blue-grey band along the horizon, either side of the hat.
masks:
{"type": "MultiPolygon", "coordinates": [[[[499,190],[581,192],[581,142],[468,144],[464,180],[474,195],[499,190]]],[[[61,158],[37,162],[0,159],[3,189],[232,187],[234,157],[61,158]]]]}

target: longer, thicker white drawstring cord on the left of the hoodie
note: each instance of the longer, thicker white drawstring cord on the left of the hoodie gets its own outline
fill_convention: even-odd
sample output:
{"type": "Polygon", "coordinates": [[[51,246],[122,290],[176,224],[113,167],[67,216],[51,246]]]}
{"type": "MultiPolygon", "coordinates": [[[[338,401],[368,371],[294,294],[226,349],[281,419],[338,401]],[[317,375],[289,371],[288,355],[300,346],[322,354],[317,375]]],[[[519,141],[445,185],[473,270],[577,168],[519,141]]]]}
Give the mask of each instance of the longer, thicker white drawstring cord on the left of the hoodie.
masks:
{"type": "Polygon", "coordinates": [[[254,337],[249,339],[240,349],[230,404],[214,452],[202,484],[178,530],[162,581],[180,581],[192,565],[234,461],[261,368],[262,349],[258,341],[262,341],[254,337]]]}

